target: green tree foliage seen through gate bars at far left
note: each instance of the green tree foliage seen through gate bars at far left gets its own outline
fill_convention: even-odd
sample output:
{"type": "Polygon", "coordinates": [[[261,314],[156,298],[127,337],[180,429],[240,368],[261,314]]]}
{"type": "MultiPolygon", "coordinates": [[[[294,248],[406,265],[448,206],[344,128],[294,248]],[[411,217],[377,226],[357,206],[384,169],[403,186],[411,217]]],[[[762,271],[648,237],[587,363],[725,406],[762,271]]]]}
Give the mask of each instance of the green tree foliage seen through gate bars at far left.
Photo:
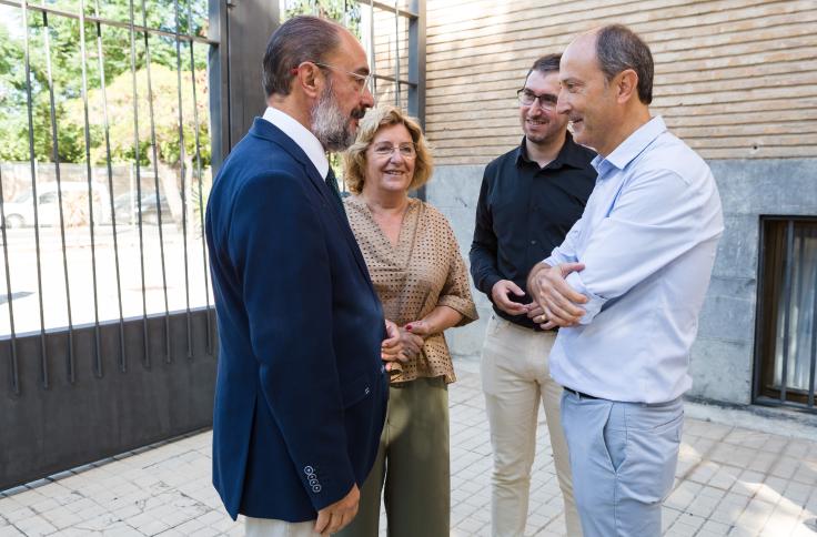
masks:
{"type": "MultiPolygon", "coordinates": [[[[159,0],[47,0],[46,3],[73,13],[79,13],[84,6],[85,16],[120,22],[130,21],[132,13],[135,24],[167,32],[174,32],[176,27],[183,34],[203,36],[206,32],[206,0],[179,0],[178,3],[159,0]]],[[[0,23],[0,160],[30,158],[30,99],[34,159],[53,161],[57,153],[61,162],[84,162],[87,97],[89,151],[93,162],[104,162],[104,83],[112,160],[138,158],[147,162],[151,142],[147,87],[150,64],[160,160],[174,164],[180,156],[178,69],[181,67],[185,151],[193,154],[195,145],[192,91],[195,73],[200,146],[206,161],[204,164],[209,162],[206,45],[193,45],[195,58],[191,61],[190,44],[182,41],[178,45],[173,37],[149,34],[145,39],[144,32],[134,31],[132,34],[128,28],[98,26],[88,20],[84,32],[81,32],[78,19],[46,16],[36,10],[29,10],[28,20],[23,23],[22,11],[9,7],[0,7],[0,18],[4,20],[0,23]],[[133,135],[134,72],[135,105],[140,114],[138,149],[134,148],[133,135]],[[57,143],[52,124],[56,124],[57,143]]]]}

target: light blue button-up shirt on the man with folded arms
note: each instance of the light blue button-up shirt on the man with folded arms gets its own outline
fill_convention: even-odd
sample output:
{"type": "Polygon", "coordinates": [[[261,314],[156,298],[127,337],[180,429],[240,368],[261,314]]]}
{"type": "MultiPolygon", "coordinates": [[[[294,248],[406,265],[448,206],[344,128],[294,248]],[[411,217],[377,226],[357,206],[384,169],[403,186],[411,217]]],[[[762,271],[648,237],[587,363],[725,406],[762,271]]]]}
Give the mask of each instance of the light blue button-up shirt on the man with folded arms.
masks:
{"type": "Polygon", "coordinates": [[[654,118],[607,158],[582,219],[545,263],[581,262],[589,300],[549,356],[563,386],[622,402],[672,401],[692,386],[689,348],[724,230],[709,166],[654,118]]]}

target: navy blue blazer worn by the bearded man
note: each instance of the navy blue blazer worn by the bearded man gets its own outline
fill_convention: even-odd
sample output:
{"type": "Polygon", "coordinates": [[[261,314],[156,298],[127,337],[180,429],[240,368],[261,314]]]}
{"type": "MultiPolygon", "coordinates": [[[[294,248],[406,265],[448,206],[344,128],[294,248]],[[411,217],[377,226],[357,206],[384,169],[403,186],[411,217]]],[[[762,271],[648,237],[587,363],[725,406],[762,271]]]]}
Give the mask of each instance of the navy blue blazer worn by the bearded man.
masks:
{"type": "Polygon", "coordinates": [[[389,397],[383,311],[332,196],[261,118],[213,183],[213,485],[233,518],[314,519],[374,463],[389,397]]]}

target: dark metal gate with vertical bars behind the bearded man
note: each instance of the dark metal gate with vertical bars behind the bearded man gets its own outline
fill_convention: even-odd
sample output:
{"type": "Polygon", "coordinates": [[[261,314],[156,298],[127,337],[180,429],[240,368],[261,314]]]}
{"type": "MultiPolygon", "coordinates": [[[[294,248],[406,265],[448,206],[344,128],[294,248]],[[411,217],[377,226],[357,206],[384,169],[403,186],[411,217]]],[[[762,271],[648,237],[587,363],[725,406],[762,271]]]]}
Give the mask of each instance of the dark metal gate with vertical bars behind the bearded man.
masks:
{"type": "MultiPolygon", "coordinates": [[[[352,3],[377,98],[422,121],[425,2],[352,3]]],[[[204,207],[263,113],[279,19],[269,0],[0,0],[0,490],[211,425],[204,207]]]]}

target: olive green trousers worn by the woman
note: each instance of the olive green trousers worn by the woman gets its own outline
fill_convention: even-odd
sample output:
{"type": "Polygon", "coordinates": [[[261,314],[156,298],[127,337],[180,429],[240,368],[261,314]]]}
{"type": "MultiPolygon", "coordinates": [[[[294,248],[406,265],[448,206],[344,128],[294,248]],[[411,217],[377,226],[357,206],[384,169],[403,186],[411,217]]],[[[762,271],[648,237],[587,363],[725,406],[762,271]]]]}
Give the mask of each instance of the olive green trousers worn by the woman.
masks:
{"type": "Polygon", "coordinates": [[[376,537],[381,493],[390,537],[448,537],[448,389],[443,377],[389,388],[377,459],[361,488],[357,516],[339,536],[376,537]]]}

